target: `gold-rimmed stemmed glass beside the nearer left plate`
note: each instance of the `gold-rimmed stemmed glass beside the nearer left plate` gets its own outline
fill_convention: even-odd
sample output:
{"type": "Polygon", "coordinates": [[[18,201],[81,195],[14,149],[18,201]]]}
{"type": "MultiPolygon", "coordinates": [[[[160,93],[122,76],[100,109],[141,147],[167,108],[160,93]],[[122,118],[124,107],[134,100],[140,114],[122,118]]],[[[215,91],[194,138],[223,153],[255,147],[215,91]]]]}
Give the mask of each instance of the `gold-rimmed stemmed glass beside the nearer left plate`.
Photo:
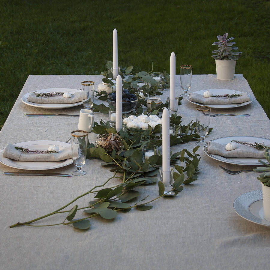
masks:
{"type": "Polygon", "coordinates": [[[71,150],[73,164],[77,170],[72,172],[73,175],[81,176],[86,172],[82,170],[82,165],[85,164],[87,153],[88,133],[82,130],[75,130],[71,132],[71,150]]]}

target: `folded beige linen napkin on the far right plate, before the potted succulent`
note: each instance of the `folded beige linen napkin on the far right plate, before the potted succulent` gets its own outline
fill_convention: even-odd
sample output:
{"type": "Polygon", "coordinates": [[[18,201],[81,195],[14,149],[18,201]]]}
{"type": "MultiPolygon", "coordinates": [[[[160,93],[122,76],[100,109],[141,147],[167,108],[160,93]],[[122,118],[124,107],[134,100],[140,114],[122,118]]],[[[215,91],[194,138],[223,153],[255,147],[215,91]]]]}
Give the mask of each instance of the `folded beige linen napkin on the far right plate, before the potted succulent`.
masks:
{"type": "Polygon", "coordinates": [[[189,100],[201,104],[237,104],[250,101],[250,97],[247,92],[241,94],[241,97],[237,98],[205,98],[201,94],[190,93],[189,100]]]}

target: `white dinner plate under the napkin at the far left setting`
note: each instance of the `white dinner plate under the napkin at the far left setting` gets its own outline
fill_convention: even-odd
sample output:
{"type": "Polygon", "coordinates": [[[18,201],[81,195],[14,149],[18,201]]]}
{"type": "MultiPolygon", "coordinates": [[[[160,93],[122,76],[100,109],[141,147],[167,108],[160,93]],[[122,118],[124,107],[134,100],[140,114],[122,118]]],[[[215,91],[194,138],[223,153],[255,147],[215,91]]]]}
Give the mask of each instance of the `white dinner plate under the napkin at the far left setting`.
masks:
{"type": "MultiPolygon", "coordinates": [[[[81,90],[71,89],[71,88],[48,88],[48,89],[41,89],[36,90],[38,93],[48,93],[48,92],[70,92],[71,94],[80,92],[81,90]]],[[[26,105],[30,105],[33,107],[44,108],[44,109],[63,109],[63,108],[70,108],[75,107],[82,104],[82,101],[70,103],[70,104],[62,104],[62,103],[35,103],[27,101],[30,92],[22,96],[22,102],[26,105]]]]}

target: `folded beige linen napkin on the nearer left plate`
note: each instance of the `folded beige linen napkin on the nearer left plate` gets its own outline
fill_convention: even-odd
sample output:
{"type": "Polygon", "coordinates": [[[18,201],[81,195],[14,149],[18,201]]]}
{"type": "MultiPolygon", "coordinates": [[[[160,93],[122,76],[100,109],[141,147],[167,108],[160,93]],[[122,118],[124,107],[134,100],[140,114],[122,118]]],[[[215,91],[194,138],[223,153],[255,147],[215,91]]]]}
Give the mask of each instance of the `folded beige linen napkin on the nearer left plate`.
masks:
{"type": "MultiPolygon", "coordinates": [[[[20,150],[15,149],[15,145],[8,143],[3,151],[5,158],[11,158],[17,161],[60,161],[72,158],[71,146],[68,146],[58,153],[49,154],[33,154],[24,153],[20,150]]],[[[32,150],[32,149],[30,149],[32,150]]],[[[48,150],[48,149],[35,149],[35,150],[48,150]]]]}

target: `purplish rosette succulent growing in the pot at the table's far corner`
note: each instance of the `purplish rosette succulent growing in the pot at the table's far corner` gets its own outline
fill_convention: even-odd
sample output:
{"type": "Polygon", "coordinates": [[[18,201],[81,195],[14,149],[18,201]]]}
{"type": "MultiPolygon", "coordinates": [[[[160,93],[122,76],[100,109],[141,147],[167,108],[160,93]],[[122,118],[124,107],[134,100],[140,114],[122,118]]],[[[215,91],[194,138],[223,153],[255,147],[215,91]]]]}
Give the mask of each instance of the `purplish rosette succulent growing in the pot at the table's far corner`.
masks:
{"type": "Polygon", "coordinates": [[[214,59],[217,60],[237,60],[241,57],[242,52],[235,52],[234,50],[238,50],[238,47],[232,46],[235,44],[233,40],[234,38],[228,38],[228,33],[225,33],[223,36],[217,36],[219,41],[214,42],[212,45],[217,45],[217,50],[212,51],[212,53],[217,53],[216,55],[212,55],[214,59]]]}

